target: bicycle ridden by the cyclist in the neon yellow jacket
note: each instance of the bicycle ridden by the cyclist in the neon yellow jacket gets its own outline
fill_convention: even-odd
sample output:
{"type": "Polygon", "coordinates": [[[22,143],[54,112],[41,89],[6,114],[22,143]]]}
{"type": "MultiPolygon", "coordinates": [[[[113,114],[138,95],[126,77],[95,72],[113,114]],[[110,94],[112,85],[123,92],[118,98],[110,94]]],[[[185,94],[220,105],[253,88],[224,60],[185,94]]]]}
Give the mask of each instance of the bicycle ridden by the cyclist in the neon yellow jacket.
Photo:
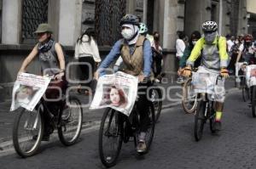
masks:
{"type": "MultiPolygon", "coordinates": [[[[194,75],[193,75],[194,76],[194,75]]],[[[221,79],[222,76],[216,76],[216,81],[215,84],[218,84],[218,80],[221,79]]],[[[210,82],[210,81],[208,81],[210,82]]],[[[194,82],[195,84],[196,82],[194,82]]],[[[201,82],[199,82],[201,83],[201,82]]],[[[207,84],[206,87],[212,86],[212,89],[214,90],[215,84],[207,84]]],[[[196,84],[195,84],[196,85],[196,84]]],[[[197,88],[197,87],[195,87],[197,88]]],[[[200,89],[201,90],[201,89],[200,89]]],[[[203,91],[203,90],[202,90],[203,91]]],[[[204,125],[207,123],[207,120],[210,122],[210,130],[212,133],[217,132],[214,127],[214,121],[215,121],[215,110],[214,110],[214,97],[212,94],[212,98],[209,99],[208,95],[208,89],[204,92],[199,93],[200,99],[199,103],[197,104],[195,108],[195,123],[194,123],[194,137],[195,141],[200,141],[202,138],[203,130],[204,130],[204,125]]],[[[197,92],[196,92],[197,93],[197,92]]]]}

